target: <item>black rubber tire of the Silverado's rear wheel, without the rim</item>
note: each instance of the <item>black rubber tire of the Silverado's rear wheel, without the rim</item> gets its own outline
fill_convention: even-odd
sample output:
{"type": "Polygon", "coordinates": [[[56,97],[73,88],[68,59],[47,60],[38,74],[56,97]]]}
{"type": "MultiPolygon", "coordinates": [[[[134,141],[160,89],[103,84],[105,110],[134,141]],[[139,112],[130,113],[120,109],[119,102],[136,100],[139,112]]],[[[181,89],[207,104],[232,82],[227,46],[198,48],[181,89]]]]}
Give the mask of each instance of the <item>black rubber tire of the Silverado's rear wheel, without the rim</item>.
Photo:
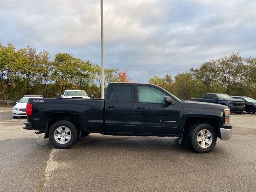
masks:
{"type": "MultiPolygon", "coordinates": [[[[72,122],[67,121],[67,120],[60,120],[60,121],[57,121],[56,123],[54,123],[51,126],[51,128],[49,130],[49,140],[55,148],[67,149],[67,148],[72,147],[77,142],[77,140],[79,138],[78,133],[79,132],[78,132],[76,126],[74,126],[74,124],[72,122]],[[64,139],[64,141],[65,140],[67,141],[67,142],[65,141],[66,143],[61,144],[61,143],[56,141],[56,139],[54,138],[54,134],[56,132],[58,132],[57,131],[58,128],[61,128],[62,130],[64,130],[63,127],[66,127],[66,128],[69,129],[67,135],[70,134],[71,136],[70,136],[70,139],[68,141],[67,141],[67,139],[64,139]]],[[[63,133],[63,134],[65,134],[65,133],[63,133]]]]}

